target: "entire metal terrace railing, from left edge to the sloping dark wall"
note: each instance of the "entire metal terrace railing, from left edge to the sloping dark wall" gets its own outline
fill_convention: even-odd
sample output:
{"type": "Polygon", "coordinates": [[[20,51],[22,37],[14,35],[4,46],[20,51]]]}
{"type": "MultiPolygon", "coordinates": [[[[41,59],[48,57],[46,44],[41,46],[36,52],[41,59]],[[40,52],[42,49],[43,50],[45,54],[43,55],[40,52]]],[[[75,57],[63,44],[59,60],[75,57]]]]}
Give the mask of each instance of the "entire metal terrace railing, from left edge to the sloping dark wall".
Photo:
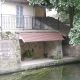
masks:
{"type": "Polygon", "coordinates": [[[59,29],[59,21],[51,17],[2,15],[2,30],[59,29]]]}

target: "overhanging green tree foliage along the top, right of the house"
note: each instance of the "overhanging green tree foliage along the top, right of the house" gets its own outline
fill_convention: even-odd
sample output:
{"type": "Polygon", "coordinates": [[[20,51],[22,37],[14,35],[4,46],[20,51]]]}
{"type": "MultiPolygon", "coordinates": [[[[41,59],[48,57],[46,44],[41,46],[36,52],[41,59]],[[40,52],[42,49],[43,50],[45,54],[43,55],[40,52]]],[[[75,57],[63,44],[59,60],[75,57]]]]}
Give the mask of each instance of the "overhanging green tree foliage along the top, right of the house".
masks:
{"type": "Polygon", "coordinates": [[[74,7],[74,15],[80,10],[80,0],[29,0],[29,3],[43,5],[49,9],[55,8],[63,18],[69,16],[70,7],[74,7]]]}

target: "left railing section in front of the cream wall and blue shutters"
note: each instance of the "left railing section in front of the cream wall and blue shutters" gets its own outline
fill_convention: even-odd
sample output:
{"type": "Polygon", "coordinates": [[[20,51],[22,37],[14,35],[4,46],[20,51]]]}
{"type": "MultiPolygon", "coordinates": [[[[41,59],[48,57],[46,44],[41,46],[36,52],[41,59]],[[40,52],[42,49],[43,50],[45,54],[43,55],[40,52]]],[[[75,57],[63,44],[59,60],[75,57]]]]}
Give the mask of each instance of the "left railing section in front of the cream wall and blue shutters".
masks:
{"type": "Polygon", "coordinates": [[[2,15],[2,30],[32,29],[32,17],[2,15]]]}

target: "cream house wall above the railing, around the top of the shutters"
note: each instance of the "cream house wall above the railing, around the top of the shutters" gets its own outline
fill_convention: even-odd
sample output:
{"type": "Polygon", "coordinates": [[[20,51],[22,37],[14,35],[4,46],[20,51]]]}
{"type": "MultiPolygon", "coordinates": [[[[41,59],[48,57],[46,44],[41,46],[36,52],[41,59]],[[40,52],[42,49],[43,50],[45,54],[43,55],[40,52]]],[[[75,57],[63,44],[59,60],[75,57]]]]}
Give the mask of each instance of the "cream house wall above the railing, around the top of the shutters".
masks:
{"type": "Polygon", "coordinates": [[[23,6],[23,15],[33,16],[33,6],[27,4],[4,2],[2,4],[2,14],[12,14],[16,15],[16,5],[23,6]]]}

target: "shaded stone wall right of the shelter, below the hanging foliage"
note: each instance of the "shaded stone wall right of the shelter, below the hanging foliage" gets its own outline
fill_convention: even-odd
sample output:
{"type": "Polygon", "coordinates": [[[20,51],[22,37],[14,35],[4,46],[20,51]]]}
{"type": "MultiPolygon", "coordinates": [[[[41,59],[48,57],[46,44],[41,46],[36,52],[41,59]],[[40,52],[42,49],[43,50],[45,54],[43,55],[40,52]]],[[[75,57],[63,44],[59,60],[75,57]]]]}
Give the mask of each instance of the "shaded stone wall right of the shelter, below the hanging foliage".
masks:
{"type": "Polygon", "coordinates": [[[72,46],[69,44],[69,38],[65,38],[62,43],[63,55],[70,57],[80,57],[80,46],[72,46]]]}

